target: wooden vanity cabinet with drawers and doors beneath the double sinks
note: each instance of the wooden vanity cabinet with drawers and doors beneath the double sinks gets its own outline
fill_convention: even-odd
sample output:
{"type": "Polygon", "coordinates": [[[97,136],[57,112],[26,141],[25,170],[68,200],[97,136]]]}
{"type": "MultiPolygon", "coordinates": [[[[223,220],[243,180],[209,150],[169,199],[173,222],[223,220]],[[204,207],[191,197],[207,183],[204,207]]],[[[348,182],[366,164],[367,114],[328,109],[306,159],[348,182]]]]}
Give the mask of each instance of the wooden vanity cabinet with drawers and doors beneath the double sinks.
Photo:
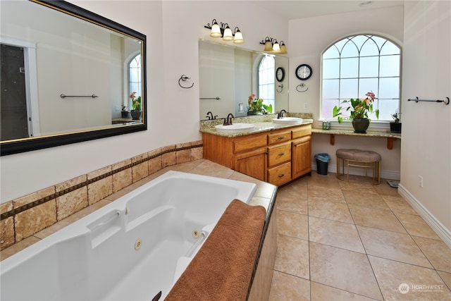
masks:
{"type": "Polygon", "coordinates": [[[277,186],[311,171],[311,125],[240,137],[202,137],[205,159],[277,186]]]}

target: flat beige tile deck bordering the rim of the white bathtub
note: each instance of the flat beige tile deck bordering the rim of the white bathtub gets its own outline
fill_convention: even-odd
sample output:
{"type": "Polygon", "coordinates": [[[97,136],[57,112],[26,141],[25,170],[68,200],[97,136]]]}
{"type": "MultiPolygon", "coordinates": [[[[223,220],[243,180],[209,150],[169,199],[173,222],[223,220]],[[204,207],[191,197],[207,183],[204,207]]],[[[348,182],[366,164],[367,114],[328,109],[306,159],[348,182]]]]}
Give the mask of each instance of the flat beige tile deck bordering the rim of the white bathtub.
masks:
{"type": "Polygon", "coordinates": [[[45,228],[44,230],[31,235],[29,238],[25,238],[15,245],[2,250],[0,252],[1,259],[5,259],[16,252],[23,250],[25,247],[46,238],[59,229],[68,226],[68,224],[81,219],[83,216],[86,216],[87,214],[90,214],[101,207],[104,207],[106,204],[109,204],[110,202],[113,202],[119,197],[127,194],[128,192],[139,188],[141,185],[154,180],[154,178],[161,176],[167,171],[182,171],[186,173],[195,173],[217,178],[228,178],[230,180],[241,180],[255,183],[257,185],[257,190],[254,193],[254,196],[250,200],[249,204],[263,206],[266,209],[266,219],[264,224],[264,231],[261,235],[259,254],[257,254],[256,264],[252,273],[252,285],[249,286],[247,300],[267,300],[269,290],[271,288],[270,283],[273,277],[272,271],[274,262],[276,260],[277,221],[275,210],[273,210],[273,208],[275,206],[277,187],[261,180],[251,178],[242,173],[238,173],[237,171],[233,171],[230,168],[226,168],[206,159],[193,159],[192,161],[186,161],[185,163],[174,164],[172,166],[160,168],[159,171],[155,171],[154,173],[149,174],[149,176],[137,180],[136,182],[132,183],[132,185],[129,185],[122,190],[118,190],[112,195],[109,195],[104,199],[100,199],[98,202],[92,204],[91,206],[85,207],[75,214],[68,216],[68,218],[58,221],[48,228],[45,228]]]}

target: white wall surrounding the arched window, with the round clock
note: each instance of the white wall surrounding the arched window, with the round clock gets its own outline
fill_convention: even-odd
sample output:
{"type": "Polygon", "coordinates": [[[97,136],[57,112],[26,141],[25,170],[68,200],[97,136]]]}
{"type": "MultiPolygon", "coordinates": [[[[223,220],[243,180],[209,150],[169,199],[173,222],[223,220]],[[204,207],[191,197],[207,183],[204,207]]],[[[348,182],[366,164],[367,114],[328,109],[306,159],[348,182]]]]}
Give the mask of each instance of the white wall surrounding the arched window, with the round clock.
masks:
{"type": "MultiPolygon", "coordinates": [[[[392,39],[402,45],[403,40],[403,8],[393,6],[371,10],[371,13],[356,11],[338,15],[320,16],[290,20],[290,111],[314,114],[314,127],[321,128],[319,111],[321,97],[321,52],[343,37],[361,33],[373,33],[392,39]],[[307,63],[313,68],[313,75],[304,81],[307,92],[297,92],[296,86],[302,81],[295,77],[297,66],[307,63]]],[[[305,88],[299,88],[304,90],[305,88]]],[[[363,97],[364,95],[362,95],[363,97]]],[[[369,130],[378,124],[371,121],[369,130]]],[[[385,125],[387,128],[388,125],[385,125]]],[[[333,123],[337,128],[337,123],[333,123]]],[[[339,148],[371,149],[382,156],[381,169],[385,178],[400,178],[400,141],[394,143],[393,149],[387,149],[387,141],[383,138],[335,136],[335,145],[330,145],[329,135],[313,135],[311,153],[330,154],[328,166],[330,172],[336,171],[335,150],[339,148]]],[[[314,166],[316,161],[314,160],[314,166]]],[[[362,173],[362,168],[356,169],[362,173]]],[[[363,173],[362,173],[363,174],[363,173]]]]}

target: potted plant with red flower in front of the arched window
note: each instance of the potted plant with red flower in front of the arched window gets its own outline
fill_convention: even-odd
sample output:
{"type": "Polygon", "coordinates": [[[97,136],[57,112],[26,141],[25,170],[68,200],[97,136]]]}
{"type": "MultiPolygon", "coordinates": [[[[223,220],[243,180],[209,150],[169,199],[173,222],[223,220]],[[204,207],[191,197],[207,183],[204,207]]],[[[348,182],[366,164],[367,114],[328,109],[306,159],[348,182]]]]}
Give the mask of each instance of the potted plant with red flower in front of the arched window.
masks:
{"type": "MultiPolygon", "coordinates": [[[[373,113],[373,102],[376,99],[376,95],[373,92],[368,92],[365,95],[366,98],[352,98],[341,102],[342,104],[348,103],[346,111],[351,111],[349,118],[352,120],[352,127],[355,133],[366,133],[366,129],[371,121],[368,118],[368,113],[373,113]]],[[[343,121],[341,110],[342,106],[334,106],[332,111],[333,117],[338,116],[338,123],[343,121]]],[[[376,118],[379,119],[379,110],[376,109],[374,112],[376,113],[376,118]]]]}

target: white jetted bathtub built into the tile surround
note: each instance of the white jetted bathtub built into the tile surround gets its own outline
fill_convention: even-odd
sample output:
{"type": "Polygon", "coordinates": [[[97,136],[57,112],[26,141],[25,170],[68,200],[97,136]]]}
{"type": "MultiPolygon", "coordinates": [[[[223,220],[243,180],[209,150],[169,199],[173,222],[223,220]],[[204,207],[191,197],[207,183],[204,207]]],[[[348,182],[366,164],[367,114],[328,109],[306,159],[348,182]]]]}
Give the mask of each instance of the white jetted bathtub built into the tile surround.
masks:
{"type": "Polygon", "coordinates": [[[253,183],[168,171],[0,262],[1,300],[161,299],[253,183]]]}

